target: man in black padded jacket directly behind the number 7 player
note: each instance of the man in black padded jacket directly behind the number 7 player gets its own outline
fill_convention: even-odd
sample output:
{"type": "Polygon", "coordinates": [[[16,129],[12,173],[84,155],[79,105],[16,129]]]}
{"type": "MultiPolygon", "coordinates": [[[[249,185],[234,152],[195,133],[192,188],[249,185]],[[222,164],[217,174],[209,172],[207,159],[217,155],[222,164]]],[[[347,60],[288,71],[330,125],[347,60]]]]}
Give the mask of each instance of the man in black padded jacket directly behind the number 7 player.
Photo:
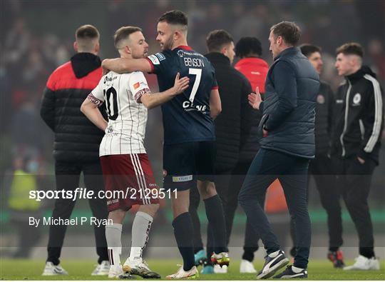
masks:
{"type": "MultiPolygon", "coordinates": [[[[215,119],[217,146],[215,186],[225,211],[228,244],[237,208],[237,194],[240,190],[240,187],[230,186],[230,181],[240,160],[241,146],[247,142],[253,124],[259,122],[260,114],[259,111],[254,111],[247,102],[247,95],[251,92],[250,82],[231,66],[235,56],[232,36],[224,30],[211,31],[207,36],[207,47],[210,53],[205,56],[214,66],[222,104],[222,113],[215,119]]],[[[257,128],[254,127],[254,129],[257,131],[257,128]]],[[[198,205],[199,194],[196,190],[190,191],[190,214],[195,226],[194,243],[197,262],[200,258],[199,252],[203,249],[199,219],[196,216],[198,205]]],[[[215,238],[211,236],[210,230],[207,233],[207,253],[210,254],[215,244],[215,238]]],[[[248,246],[257,246],[257,234],[252,231],[252,228],[247,228],[245,241],[248,242],[248,246]]],[[[253,256],[253,251],[250,256],[253,256]]],[[[207,273],[208,269],[204,268],[202,273],[207,273]]]]}

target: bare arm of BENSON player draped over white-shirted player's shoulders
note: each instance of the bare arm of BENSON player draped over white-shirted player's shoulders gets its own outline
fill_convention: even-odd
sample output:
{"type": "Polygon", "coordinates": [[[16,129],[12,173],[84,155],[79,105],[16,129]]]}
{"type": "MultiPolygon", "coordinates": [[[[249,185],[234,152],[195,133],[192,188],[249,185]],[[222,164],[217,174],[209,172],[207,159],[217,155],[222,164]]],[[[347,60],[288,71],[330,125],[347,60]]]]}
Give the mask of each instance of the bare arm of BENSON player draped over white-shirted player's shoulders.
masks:
{"type": "Polygon", "coordinates": [[[151,72],[153,68],[148,59],[104,59],[102,61],[103,74],[108,71],[115,71],[118,74],[124,74],[133,71],[151,72]]]}

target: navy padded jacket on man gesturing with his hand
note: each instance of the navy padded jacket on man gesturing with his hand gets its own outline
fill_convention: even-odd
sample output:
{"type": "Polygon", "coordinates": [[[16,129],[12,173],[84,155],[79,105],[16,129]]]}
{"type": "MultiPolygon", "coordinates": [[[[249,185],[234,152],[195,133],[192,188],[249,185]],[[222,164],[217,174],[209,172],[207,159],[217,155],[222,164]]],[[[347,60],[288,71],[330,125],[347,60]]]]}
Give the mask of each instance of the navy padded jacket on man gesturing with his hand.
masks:
{"type": "Polygon", "coordinates": [[[298,48],[282,51],[270,66],[261,103],[262,148],[302,158],[314,158],[315,104],[319,76],[298,48]]]}

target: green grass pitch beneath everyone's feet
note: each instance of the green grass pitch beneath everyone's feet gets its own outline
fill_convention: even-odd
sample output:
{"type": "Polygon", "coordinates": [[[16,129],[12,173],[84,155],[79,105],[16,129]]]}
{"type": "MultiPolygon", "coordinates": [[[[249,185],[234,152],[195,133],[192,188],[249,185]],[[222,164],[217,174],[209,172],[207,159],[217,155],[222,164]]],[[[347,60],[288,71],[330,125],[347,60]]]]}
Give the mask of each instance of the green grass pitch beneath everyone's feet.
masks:
{"type": "MultiPolygon", "coordinates": [[[[181,261],[175,260],[148,260],[150,268],[160,273],[162,278],[175,273],[181,261]]],[[[352,261],[347,261],[352,263],[352,261]]],[[[111,280],[106,276],[91,276],[95,262],[85,260],[66,260],[61,262],[68,271],[68,276],[41,276],[44,261],[9,260],[0,258],[1,280],[111,280]]],[[[255,263],[256,269],[262,267],[262,261],[255,263]]],[[[199,268],[201,269],[201,267],[199,268]]],[[[254,274],[240,274],[240,261],[232,261],[227,274],[200,275],[198,280],[255,280],[254,274]]],[[[385,280],[385,263],[381,261],[380,271],[342,271],[332,268],[326,260],[312,260],[309,263],[309,280],[385,280]]],[[[142,279],[138,277],[138,279],[142,279]]]]}

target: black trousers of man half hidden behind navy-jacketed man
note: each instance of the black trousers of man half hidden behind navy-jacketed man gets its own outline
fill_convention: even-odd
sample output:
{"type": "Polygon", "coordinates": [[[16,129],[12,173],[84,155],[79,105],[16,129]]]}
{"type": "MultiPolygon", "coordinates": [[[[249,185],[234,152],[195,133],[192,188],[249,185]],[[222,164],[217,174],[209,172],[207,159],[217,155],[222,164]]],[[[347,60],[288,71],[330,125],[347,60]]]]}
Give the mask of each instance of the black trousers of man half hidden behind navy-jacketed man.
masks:
{"type": "MultiPolygon", "coordinates": [[[[328,156],[316,156],[309,163],[309,176],[313,176],[322,207],[327,211],[330,251],[337,251],[343,243],[341,205],[339,203],[341,192],[339,186],[335,185],[336,177],[334,174],[333,163],[328,156]]],[[[290,233],[295,246],[296,238],[293,221],[290,221],[290,233]]],[[[292,248],[291,254],[295,256],[295,247],[292,248]]]]}

